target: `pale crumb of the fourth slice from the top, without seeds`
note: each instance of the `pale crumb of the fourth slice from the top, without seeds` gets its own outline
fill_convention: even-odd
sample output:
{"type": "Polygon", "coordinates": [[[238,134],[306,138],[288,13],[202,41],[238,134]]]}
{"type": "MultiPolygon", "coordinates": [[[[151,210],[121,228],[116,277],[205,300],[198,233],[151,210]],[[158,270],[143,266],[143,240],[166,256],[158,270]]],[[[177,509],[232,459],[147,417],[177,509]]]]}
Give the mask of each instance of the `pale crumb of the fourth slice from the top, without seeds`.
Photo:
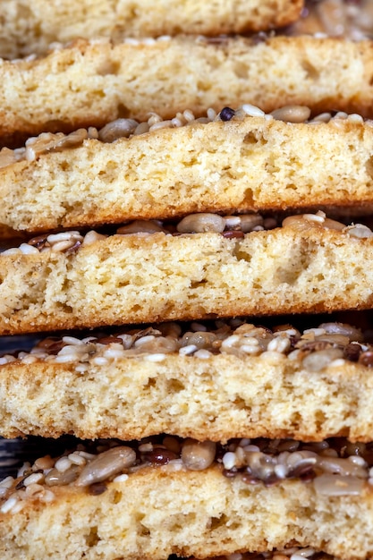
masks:
{"type": "Polygon", "coordinates": [[[0,255],[1,334],[373,303],[373,238],[301,217],[242,239],[137,233],[56,249],[0,255]]]}

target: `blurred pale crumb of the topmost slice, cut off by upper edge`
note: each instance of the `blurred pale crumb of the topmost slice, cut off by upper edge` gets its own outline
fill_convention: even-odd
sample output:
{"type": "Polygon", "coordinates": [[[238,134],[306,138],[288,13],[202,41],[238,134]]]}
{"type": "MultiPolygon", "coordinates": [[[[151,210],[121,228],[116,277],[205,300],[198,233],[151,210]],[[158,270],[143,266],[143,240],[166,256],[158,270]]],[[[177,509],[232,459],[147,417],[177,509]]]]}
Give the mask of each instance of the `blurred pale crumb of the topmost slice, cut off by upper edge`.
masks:
{"type": "Polygon", "coordinates": [[[302,0],[3,0],[0,55],[43,54],[74,38],[219,35],[282,27],[302,0]]]}

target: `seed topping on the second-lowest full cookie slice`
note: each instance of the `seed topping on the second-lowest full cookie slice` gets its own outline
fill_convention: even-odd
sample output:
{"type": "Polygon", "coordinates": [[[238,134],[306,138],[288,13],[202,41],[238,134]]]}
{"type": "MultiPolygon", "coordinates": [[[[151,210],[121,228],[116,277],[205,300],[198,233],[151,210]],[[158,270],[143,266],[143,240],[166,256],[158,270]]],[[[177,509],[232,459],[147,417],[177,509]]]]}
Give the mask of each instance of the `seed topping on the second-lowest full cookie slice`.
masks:
{"type": "Polygon", "coordinates": [[[205,324],[192,322],[163,323],[155,327],[123,327],[113,335],[100,332],[84,338],[48,336],[30,352],[5,353],[1,365],[20,361],[23,364],[46,361],[72,364],[84,374],[90,366],[107,366],[123,359],[164,361],[167,354],[208,360],[218,353],[239,358],[285,355],[309,371],[340,366],[345,361],[373,367],[373,344],[363,333],[344,323],[322,323],[302,333],[291,325],[258,327],[241,319],[216,320],[205,324]]]}

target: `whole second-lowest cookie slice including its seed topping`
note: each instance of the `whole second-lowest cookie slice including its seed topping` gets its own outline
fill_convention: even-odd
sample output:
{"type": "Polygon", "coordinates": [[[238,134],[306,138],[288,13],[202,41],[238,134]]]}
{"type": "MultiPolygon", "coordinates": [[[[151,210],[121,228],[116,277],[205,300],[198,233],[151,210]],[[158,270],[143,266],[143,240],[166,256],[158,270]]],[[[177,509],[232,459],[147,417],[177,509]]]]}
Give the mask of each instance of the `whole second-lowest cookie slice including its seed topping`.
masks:
{"type": "Polygon", "coordinates": [[[332,322],[303,334],[234,320],[53,336],[0,358],[0,435],[371,441],[372,351],[332,322]]]}

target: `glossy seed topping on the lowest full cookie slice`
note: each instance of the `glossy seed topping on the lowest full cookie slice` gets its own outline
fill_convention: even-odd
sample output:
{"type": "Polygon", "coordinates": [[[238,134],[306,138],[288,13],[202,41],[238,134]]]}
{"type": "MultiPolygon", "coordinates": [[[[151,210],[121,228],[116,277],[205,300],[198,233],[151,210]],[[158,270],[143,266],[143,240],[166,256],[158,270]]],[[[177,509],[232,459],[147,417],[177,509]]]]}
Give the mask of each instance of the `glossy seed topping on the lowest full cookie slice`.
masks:
{"type": "Polygon", "coordinates": [[[300,479],[323,496],[356,496],[373,484],[373,443],[352,444],[345,438],[319,443],[243,438],[226,445],[172,436],[125,444],[97,440],[55,459],[46,455],[25,463],[16,478],[0,482],[0,512],[17,513],[28,501],[53,502],[54,487],[74,486],[100,495],[108,482],[124,482],[149,466],[204,471],[213,463],[228,479],[239,476],[247,484],[265,486],[300,479]]]}

